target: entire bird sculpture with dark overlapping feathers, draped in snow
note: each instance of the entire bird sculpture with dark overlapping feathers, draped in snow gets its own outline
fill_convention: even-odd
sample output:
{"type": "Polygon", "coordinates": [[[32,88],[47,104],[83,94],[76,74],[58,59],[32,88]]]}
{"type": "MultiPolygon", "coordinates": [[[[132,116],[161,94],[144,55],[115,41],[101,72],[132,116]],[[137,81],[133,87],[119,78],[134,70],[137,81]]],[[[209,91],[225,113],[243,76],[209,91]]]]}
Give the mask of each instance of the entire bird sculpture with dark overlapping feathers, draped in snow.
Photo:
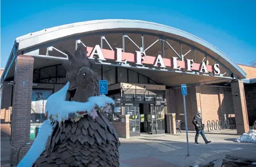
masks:
{"type": "Polygon", "coordinates": [[[106,115],[114,101],[99,95],[98,79],[81,47],[67,55],[63,65],[69,82],[48,98],[51,121],[38,133],[44,138],[35,139],[18,167],[119,166],[118,134],[106,115]]]}

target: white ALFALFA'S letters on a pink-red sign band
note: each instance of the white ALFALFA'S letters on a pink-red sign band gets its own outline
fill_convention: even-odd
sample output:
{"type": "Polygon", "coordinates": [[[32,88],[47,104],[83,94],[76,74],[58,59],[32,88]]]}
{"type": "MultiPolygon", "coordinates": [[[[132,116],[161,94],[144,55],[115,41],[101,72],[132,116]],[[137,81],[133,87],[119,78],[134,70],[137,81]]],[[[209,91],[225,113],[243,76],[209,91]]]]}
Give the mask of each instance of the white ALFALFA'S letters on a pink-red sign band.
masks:
{"type": "Polygon", "coordinates": [[[201,73],[213,73],[214,75],[220,74],[219,64],[207,65],[204,61],[200,64],[193,63],[192,59],[185,59],[185,61],[177,60],[178,57],[172,59],[163,58],[158,56],[146,56],[145,52],[135,51],[136,53],[122,52],[123,49],[115,48],[115,51],[101,49],[99,45],[94,48],[87,48],[88,59],[98,59],[101,61],[115,60],[117,63],[127,64],[127,62],[135,63],[137,67],[142,65],[153,65],[158,68],[173,68],[174,70],[185,69],[186,71],[199,71],[201,73]]]}

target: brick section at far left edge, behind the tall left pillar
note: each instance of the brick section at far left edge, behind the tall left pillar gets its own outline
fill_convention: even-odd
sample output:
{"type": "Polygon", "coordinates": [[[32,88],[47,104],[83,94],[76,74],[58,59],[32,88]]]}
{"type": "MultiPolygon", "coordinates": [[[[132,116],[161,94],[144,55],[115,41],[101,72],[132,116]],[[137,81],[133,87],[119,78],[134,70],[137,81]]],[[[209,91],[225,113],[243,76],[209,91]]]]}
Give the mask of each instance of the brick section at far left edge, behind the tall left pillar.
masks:
{"type": "Polygon", "coordinates": [[[2,83],[1,88],[1,137],[10,137],[11,94],[13,86],[2,83]]]}

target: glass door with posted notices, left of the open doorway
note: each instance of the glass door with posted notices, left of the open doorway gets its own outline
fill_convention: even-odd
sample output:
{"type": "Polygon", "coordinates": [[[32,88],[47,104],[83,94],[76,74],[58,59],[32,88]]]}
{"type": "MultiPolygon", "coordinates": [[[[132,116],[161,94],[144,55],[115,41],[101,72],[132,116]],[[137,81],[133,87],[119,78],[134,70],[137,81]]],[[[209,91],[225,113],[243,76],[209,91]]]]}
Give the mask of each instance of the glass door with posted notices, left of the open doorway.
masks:
{"type": "Polygon", "coordinates": [[[130,115],[130,137],[140,135],[139,106],[134,104],[125,104],[125,114],[130,115]]]}

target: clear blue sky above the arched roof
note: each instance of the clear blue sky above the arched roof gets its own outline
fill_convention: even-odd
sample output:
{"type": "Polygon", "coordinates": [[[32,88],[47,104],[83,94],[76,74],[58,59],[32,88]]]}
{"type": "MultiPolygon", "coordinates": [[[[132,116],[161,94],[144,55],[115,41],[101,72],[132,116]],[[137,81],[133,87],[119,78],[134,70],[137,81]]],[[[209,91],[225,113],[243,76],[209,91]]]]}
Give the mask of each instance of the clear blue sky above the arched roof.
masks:
{"type": "Polygon", "coordinates": [[[1,68],[16,37],[73,22],[153,21],[203,38],[236,63],[256,59],[256,1],[1,1],[1,68]]]}

